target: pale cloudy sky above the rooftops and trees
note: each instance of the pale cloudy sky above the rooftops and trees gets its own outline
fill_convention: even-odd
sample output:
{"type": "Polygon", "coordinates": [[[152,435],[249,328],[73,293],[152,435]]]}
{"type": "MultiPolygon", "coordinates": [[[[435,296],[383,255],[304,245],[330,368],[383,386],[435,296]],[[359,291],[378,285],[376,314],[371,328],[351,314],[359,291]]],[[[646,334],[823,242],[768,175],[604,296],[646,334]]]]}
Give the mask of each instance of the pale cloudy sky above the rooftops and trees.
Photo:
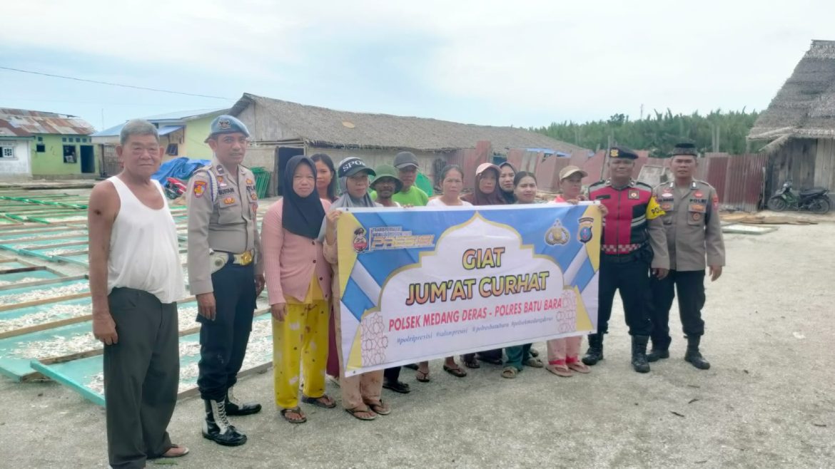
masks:
{"type": "Polygon", "coordinates": [[[3,2],[0,108],[126,119],[242,93],[473,124],[762,109],[835,2],[3,2]],[[278,6],[281,5],[281,6],[278,6]]]}

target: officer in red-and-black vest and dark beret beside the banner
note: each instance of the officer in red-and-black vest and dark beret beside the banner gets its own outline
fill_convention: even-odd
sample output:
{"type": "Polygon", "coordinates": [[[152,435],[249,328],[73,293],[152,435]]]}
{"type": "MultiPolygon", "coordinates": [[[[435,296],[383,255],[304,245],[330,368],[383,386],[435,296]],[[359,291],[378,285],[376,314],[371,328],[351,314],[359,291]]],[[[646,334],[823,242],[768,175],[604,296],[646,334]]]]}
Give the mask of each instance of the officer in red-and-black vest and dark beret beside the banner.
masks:
{"type": "Polygon", "coordinates": [[[603,219],[600,244],[600,283],[598,287],[597,333],[589,335],[586,365],[603,360],[603,335],[609,330],[615,290],[620,290],[626,325],[632,336],[632,367],[639,373],[650,371],[646,344],[652,325],[649,317],[650,267],[652,275],[665,277],[670,267],[661,216],[664,211],[655,200],[652,188],[632,179],[638,154],[624,147],[609,153],[610,179],[592,184],[590,199],[600,200],[609,213],[603,219]]]}

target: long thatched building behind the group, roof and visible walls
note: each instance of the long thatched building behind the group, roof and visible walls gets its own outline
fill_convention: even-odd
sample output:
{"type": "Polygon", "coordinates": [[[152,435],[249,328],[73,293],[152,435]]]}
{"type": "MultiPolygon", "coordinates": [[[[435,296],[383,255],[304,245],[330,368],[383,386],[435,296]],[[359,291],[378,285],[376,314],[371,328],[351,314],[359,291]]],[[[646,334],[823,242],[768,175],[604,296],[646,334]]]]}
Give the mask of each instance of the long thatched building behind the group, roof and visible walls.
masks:
{"type": "Polygon", "coordinates": [[[230,113],[250,130],[249,164],[265,166],[275,174],[294,154],[322,152],[335,162],[359,156],[376,166],[391,164],[394,154],[407,150],[417,155],[423,174],[430,178],[443,164],[453,162],[474,174],[474,164],[493,159],[493,155],[506,155],[511,149],[534,149],[534,153],[542,154],[588,153],[576,145],[514,127],[353,113],[250,93],[244,93],[230,113]],[[489,149],[469,151],[479,142],[489,142],[489,149]]]}

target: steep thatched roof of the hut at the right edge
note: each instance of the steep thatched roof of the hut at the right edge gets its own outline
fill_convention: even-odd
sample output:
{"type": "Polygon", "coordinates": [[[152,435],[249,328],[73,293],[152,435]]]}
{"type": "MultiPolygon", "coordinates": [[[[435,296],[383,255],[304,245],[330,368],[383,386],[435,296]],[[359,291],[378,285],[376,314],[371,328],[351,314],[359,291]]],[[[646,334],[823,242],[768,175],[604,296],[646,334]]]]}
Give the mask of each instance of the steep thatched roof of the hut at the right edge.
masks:
{"type": "Polygon", "coordinates": [[[748,139],[835,138],[835,41],[812,41],[748,139]]]}

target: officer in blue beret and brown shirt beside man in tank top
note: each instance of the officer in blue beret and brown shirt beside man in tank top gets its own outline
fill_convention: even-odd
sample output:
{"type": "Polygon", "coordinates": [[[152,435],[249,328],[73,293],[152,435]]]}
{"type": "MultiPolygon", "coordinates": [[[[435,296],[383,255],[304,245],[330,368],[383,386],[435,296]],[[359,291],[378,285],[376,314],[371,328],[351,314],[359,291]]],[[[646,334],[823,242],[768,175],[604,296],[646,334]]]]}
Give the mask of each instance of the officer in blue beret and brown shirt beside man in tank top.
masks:
{"type": "Polygon", "coordinates": [[[189,284],[201,324],[197,386],[205,401],[203,436],[225,446],[246,442],[227,416],[261,411],[260,404],[242,403],[232,393],[256,296],[264,289],[255,176],[241,165],[249,135],[230,115],[212,121],[206,143],[215,159],[191,177],[187,196],[189,284]]]}

